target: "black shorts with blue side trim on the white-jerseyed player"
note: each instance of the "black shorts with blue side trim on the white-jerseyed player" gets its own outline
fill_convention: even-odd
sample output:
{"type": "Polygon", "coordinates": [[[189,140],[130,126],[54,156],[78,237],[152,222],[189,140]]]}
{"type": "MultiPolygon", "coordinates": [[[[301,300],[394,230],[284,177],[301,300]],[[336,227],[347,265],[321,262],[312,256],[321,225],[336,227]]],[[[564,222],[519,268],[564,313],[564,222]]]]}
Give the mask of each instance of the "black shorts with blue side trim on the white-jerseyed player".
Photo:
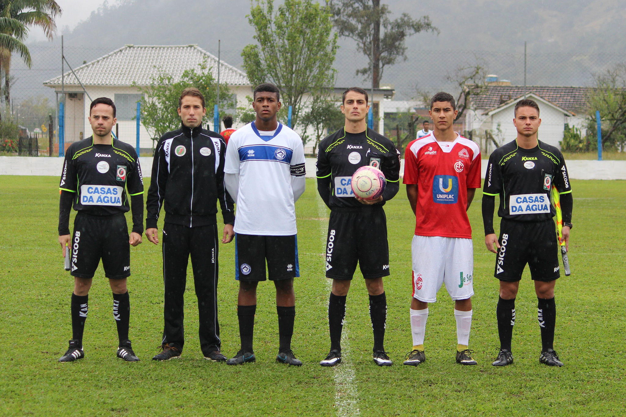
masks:
{"type": "Polygon", "coordinates": [[[265,281],[266,259],[272,281],[300,276],[297,236],[235,235],[235,279],[265,281]]]}

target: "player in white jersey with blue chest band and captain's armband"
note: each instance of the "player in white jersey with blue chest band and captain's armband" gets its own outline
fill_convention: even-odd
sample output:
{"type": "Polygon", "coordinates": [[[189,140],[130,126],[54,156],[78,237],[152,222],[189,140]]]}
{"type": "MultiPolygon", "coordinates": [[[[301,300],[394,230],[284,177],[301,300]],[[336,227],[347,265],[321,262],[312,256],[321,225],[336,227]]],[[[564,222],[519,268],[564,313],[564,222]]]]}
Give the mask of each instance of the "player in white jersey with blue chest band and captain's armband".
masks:
{"type": "Polygon", "coordinates": [[[294,278],[298,265],[295,201],[304,193],[304,146],[300,136],[280,124],[279,89],[260,84],[254,90],[255,121],[230,136],[224,181],[237,203],[235,279],[239,280],[237,316],[241,349],[227,364],[254,362],[252,338],[257,284],[269,278],[276,287],[280,346],[276,360],[302,365],[291,350],[294,333],[294,278]],[[265,261],[267,260],[267,278],[265,261]]]}

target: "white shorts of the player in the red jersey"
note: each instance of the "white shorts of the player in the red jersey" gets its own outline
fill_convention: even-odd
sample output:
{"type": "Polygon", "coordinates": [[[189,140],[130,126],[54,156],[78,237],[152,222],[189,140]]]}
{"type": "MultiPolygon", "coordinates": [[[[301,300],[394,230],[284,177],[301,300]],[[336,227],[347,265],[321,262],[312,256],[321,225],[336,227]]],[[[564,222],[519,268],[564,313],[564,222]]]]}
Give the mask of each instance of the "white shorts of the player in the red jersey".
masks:
{"type": "Polygon", "coordinates": [[[454,300],[474,295],[474,247],[471,239],[413,236],[413,296],[424,303],[437,301],[446,284],[454,300]]]}

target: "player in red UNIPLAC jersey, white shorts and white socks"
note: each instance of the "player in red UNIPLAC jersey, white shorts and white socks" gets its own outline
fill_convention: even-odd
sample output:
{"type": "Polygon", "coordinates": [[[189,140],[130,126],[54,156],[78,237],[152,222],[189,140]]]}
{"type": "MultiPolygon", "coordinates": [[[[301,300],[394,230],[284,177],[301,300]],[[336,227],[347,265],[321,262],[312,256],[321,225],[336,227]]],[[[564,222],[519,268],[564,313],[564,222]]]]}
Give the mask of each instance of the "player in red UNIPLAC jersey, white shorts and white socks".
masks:
{"type": "Polygon", "coordinates": [[[458,114],[453,96],[435,94],[429,114],[433,131],[409,143],[404,159],[403,182],[416,215],[411,244],[413,351],[404,364],[418,366],[426,361],[428,303],[437,300],[437,291],[445,283],[454,300],[456,361],[475,365],[468,349],[474,261],[467,209],[480,188],[480,149],[453,130],[458,114]]]}

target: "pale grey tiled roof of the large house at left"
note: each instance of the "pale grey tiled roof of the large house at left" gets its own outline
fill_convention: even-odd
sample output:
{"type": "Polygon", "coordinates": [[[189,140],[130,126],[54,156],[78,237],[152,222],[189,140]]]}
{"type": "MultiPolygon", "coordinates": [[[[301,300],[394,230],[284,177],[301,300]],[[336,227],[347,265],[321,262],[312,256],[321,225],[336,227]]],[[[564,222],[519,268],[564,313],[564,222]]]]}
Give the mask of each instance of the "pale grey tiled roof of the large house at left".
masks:
{"type": "MultiPolygon", "coordinates": [[[[153,76],[163,71],[173,76],[173,81],[180,80],[183,71],[195,69],[198,64],[207,61],[213,77],[217,80],[217,57],[198,48],[197,45],[126,45],[123,48],[95,59],[90,63],[74,68],[74,73],[85,86],[140,86],[151,84],[153,76]]],[[[76,84],[76,77],[68,71],[64,74],[65,84],[76,84]]],[[[230,85],[249,85],[244,71],[221,61],[220,83],[230,85]]],[[[44,86],[61,85],[61,76],[45,81],[44,86]]]]}

